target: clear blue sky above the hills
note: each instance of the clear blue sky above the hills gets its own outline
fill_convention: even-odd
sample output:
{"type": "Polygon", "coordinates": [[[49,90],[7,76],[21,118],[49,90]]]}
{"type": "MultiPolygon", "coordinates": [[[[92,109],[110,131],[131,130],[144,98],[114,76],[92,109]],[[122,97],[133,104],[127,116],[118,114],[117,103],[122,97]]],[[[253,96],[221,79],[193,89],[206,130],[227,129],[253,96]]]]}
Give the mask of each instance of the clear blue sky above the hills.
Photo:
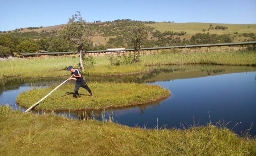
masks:
{"type": "Polygon", "coordinates": [[[256,0],[0,0],[0,31],[84,20],[256,24],[256,0]]]}

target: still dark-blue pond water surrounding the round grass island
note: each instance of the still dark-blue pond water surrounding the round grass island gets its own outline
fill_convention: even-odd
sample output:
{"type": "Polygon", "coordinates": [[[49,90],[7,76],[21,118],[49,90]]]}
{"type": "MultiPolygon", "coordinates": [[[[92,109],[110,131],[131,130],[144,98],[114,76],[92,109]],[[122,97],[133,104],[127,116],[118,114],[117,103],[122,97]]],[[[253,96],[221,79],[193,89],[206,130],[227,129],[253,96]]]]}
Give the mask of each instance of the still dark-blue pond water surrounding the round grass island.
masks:
{"type": "MultiPolygon", "coordinates": [[[[84,76],[88,84],[90,81],[149,83],[171,91],[168,98],[150,104],[105,109],[105,119],[113,114],[114,122],[143,128],[187,128],[191,125],[224,122],[239,135],[253,123],[249,134],[256,135],[256,67],[185,65],[150,68],[150,72],[125,77],[84,76]]],[[[67,77],[5,79],[0,84],[0,105],[8,104],[13,109],[24,111],[26,108],[15,102],[19,93],[34,87],[59,84],[67,77]]],[[[55,113],[83,119],[85,112],[55,113]]],[[[99,121],[104,116],[103,110],[86,110],[86,115],[99,121]]]]}

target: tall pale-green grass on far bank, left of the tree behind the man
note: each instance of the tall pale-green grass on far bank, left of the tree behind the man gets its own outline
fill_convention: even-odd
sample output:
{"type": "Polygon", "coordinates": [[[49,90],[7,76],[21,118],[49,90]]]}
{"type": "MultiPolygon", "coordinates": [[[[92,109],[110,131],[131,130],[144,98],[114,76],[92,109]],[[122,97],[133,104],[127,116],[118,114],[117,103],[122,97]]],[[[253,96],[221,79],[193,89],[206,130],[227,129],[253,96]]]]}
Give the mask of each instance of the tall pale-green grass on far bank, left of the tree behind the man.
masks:
{"type": "Polygon", "coordinates": [[[78,58],[43,58],[43,59],[18,59],[0,61],[0,78],[5,77],[37,77],[37,75],[61,76],[66,75],[65,70],[68,66],[76,66],[78,58]],[[39,73],[39,74],[38,74],[39,73]]]}

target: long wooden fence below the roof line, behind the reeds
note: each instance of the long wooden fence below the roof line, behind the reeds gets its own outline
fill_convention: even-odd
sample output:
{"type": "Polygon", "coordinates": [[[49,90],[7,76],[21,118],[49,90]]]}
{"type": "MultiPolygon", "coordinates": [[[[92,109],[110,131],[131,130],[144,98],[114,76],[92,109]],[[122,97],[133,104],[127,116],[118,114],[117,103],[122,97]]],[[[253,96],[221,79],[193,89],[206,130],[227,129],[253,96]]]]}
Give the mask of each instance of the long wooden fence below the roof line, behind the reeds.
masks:
{"type": "MultiPolygon", "coordinates": [[[[179,51],[179,52],[211,52],[211,51],[241,51],[255,50],[256,41],[253,42],[234,42],[234,43],[218,43],[204,45],[185,45],[185,46],[168,46],[168,47],[151,47],[142,48],[141,55],[154,55],[163,50],[179,51]]],[[[130,54],[134,49],[125,50],[96,50],[87,51],[85,54],[89,56],[110,56],[118,54],[130,54]]],[[[53,57],[72,57],[78,56],[78,52],[43,52],[43,53],[21,53],[21,58],[53,58],[53,57]]]]}

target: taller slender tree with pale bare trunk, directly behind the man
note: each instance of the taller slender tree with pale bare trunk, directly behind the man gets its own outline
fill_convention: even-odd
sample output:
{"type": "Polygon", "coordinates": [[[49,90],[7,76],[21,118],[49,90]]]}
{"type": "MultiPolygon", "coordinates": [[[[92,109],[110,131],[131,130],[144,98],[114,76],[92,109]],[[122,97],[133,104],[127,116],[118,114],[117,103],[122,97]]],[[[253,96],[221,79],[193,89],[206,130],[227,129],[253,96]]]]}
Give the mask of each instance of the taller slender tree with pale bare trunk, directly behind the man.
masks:
{"type": "Polygon", "coordinates": [[[82,71],[84,71],[82,51],[86,50],[85,47],[91,40],[91,37],[95,35],[95,29],[91,25],[86,24],[86,21],[81,17],[80,12],[72,15],[69,18],[67,26],[61,31],[64,39],[67,39],[76,45],[78,45],[80,51],[80,64],[82,71]]]}

